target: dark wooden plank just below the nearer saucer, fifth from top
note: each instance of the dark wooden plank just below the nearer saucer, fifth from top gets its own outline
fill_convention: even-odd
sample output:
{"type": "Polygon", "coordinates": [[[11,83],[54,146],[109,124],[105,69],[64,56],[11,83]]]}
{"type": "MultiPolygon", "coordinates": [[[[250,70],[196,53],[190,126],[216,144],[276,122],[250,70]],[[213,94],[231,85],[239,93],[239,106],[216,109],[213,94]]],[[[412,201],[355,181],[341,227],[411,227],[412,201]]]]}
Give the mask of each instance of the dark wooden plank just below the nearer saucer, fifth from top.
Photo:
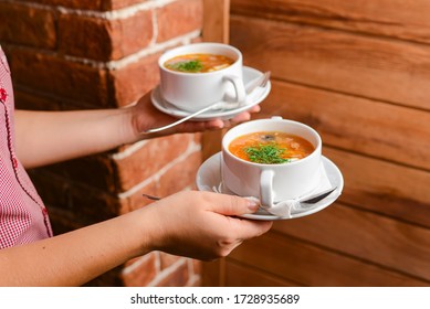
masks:
{"type": "MultiPolygon", "coordinates": [[[[274,231],[430,283],[430,230],[335,203],[274,231]]],[[[349,270],[349,274],[352,270],[349,270]]]]}

